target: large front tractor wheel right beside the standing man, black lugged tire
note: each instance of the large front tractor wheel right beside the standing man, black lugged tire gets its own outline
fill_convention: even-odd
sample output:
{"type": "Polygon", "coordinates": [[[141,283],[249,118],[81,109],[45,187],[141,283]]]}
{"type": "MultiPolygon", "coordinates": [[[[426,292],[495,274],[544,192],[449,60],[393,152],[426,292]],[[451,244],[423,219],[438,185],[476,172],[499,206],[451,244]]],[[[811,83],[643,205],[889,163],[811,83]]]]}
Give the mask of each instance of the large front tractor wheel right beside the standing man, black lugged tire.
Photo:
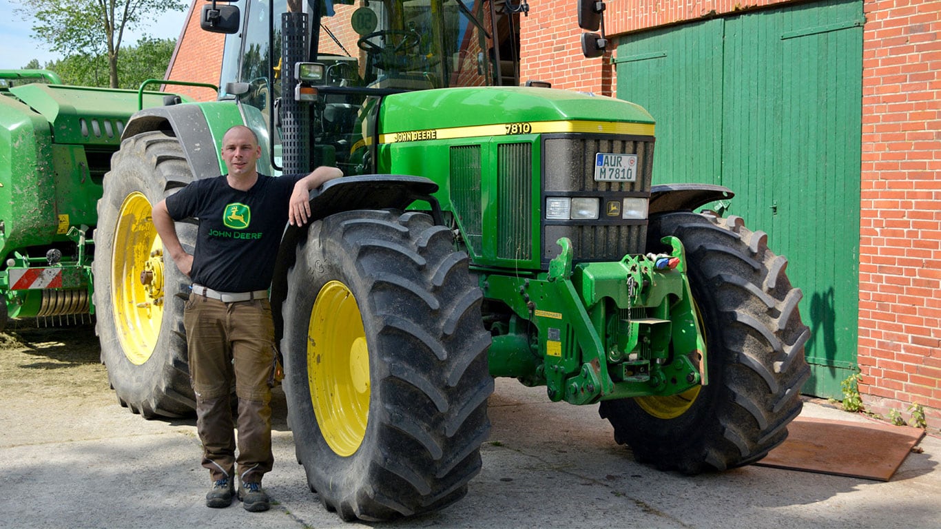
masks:
{"type": "Polygon", "coordinates": [[[313,223],[298,246],[288,284],[284,392],[297,460],[321,503],[344,521],[385,521],[463,497],[480,472],[493,378],[483,295],[451,232],[423,214],[329,216],[313,223]],[[344,305],[349,294],[356,305],[344,305]],[[326,319],[309,332],[320,317],[326,319]],[[331,338],[318,342],[318,332],[331,338]],[[368,391],[360,387],[343,397],[362,399],[359,408],[344,406],[332,418],[338,423],[327,424],[327,412],[339,407],[329,401],[320,408],[326,418],[318,417],[311,390],[325,402],[316,392],[327,378],[311,375],[309,367],[343,376],[359,373],[364,359],[368,391]],[[333,448],[347,426],[360,430],[333,448]]]}

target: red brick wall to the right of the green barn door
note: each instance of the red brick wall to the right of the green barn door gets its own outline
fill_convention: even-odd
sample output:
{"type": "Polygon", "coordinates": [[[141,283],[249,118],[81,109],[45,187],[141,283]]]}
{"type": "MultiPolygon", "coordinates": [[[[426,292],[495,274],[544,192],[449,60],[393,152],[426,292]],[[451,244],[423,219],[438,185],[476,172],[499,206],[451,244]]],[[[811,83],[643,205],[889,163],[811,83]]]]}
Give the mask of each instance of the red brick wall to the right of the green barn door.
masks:
{"type": "Polygon", "coordinates": [[[938,425],[941,2],[867,1],[864,11],[860,392],[876,412],[925,406],[938,425]]]}

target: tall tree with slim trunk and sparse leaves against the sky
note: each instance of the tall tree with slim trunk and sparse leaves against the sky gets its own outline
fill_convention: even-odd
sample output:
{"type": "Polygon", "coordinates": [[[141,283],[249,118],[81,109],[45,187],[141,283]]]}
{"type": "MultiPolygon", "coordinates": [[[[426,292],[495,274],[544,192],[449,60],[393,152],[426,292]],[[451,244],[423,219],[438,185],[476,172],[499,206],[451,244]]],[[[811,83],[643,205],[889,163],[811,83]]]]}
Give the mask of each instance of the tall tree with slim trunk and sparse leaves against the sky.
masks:
{"type": "MultiPolygon", "coordinates": [[[[32,16],[33,38],[68,57],[106,58],[108,86],[119,88],[118,57],[124,30],[150,20],[147,15],[185,8],[180,0],[21,0],[32,16]]],[[[163,76],[163,73],[161,73],[163,76]]]]}

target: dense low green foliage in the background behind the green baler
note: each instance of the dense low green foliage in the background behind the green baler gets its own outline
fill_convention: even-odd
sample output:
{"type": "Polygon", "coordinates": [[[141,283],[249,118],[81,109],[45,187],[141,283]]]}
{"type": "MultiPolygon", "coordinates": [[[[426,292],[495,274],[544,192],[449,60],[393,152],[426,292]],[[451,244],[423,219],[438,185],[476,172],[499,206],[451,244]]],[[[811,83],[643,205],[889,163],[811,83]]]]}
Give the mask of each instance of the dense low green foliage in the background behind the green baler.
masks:
{"type": "MultiPolygon", "coordinates": [[[[147,79],[162,79],[167,72],[176,40],[143,37],[136,45],[121,51],[118,60],[120,83],[118,88],[137,89],[147,79]]],[[[108,61],[104,55],[67,56],[46,63],[46,70],[58,73],[62,82],[81,87],[110,86],[108,61]]],[[[151,87],[156,89],[159,87],[151,87]]]]}

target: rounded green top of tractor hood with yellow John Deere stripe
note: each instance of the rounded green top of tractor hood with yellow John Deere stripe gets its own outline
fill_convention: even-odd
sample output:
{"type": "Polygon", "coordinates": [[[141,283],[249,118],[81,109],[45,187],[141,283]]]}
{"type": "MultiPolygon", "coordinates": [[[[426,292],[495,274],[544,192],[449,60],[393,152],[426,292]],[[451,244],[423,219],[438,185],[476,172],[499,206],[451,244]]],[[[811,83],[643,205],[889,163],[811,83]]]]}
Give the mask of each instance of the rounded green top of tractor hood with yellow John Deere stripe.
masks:
{"type": "Polygon", "coordinates": [[[559,120],[646,124],[644,130],[651,132],[654,123],[653,117],[640,105],[619,99],[523,87],[442,88],[395,94],[383,101],[379,122],[380,134],[394,135],[407,131],[559,120]]]}

